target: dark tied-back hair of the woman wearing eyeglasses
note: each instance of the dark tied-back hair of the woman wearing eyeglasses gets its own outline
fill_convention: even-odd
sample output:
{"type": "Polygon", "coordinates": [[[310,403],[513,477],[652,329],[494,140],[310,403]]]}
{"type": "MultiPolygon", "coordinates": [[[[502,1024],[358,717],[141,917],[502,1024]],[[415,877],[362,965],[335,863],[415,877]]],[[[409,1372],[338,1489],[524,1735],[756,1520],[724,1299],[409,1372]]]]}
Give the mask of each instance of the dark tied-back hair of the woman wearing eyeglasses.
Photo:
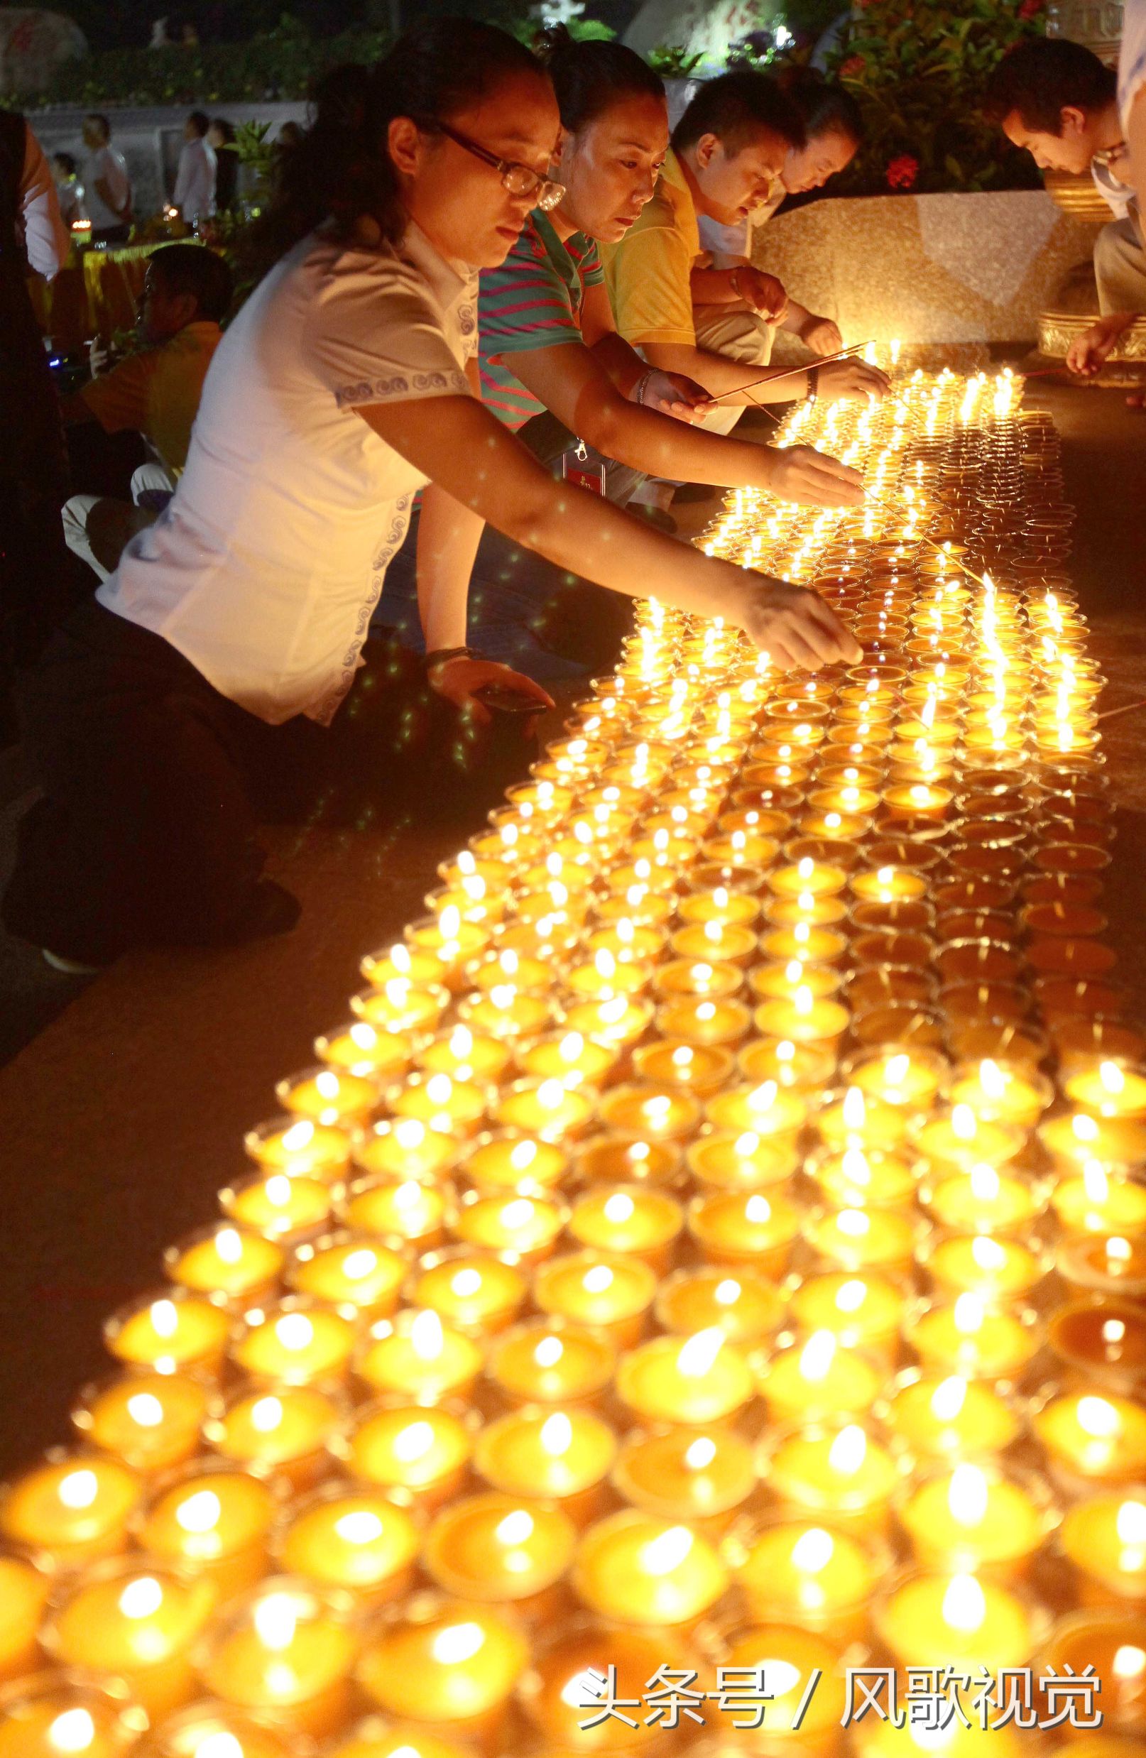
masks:
{"type": "Polygon", "coordinates": [[[251,227],[257,265],[269,267],[327,220],[350,237],[369,216],[395,243],[406,213],[387,151],[394,118],[429,127],[524,72],[545,77],[531,49],[471,18],[429,19],[404,32],[374,67],[332,69],[315,91],[309,128],[279,153],[274,195],[251,227]]]}

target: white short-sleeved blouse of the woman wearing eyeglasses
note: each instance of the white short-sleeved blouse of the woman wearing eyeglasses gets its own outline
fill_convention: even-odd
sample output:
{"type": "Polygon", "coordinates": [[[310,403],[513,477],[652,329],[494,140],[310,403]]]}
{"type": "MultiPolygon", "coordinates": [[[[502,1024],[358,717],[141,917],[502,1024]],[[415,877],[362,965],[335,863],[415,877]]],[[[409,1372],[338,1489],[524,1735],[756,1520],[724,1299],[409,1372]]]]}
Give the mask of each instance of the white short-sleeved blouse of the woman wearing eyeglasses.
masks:
{"type": "Polygon", "coordinates": [[[469,396],[476,276],[315,234],[227,331],[176,498],[98,598],[271,724],[330,721],[425,476],[357,415],[469,396]]]}

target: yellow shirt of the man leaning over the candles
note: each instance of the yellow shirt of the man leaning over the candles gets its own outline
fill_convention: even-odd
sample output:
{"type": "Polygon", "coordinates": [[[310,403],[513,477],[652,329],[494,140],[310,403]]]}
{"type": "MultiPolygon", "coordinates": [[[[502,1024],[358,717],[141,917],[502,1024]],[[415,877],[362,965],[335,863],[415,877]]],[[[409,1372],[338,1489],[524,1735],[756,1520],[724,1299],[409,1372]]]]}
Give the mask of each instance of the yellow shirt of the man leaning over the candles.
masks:
{"type": "Polygon", "coordinates": [[[707,260],[696,206],[680,160],[670,149],[652,200],[619,244],[601,244],[613,322],[635,348],[645,343],[696,346],[691,274],[707,260]]]}

